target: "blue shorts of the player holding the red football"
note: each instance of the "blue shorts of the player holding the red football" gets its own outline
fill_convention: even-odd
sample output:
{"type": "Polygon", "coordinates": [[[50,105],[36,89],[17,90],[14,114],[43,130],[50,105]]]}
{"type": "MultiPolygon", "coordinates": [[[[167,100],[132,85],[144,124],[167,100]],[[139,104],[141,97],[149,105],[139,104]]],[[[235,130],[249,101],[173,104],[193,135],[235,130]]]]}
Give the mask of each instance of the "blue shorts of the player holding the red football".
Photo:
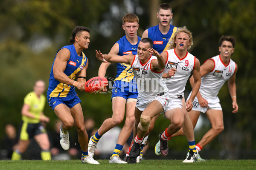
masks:
{"type": "Polygon", "coordinates": [[[48,104],[52,108],[52,110],[54,110],[54,108],[61,103],[63,103],[64,105],[67,105],[68,108],[73,108],[74,105],[81,103],[81,100],[77,95],[73,99],[69,99],[69,100],[65,100],[65,99],[66,99],[65,97],[49,97],[48,104]]]}

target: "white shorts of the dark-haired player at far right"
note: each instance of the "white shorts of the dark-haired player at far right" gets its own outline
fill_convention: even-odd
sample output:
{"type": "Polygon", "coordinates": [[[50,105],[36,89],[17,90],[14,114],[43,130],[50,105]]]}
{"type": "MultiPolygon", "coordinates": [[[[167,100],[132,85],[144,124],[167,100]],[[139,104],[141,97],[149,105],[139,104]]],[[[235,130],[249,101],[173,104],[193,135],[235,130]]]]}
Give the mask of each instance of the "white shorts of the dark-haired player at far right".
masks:
{"type": "MultiPolygon", "coordinates": [[[[191,95],[191,92],[188,96],[188,99],[189,99],[190,95],[191,95]]],[[[218,96],[215,97],[214,99],[209,99],[209,98],[204,97],[204,96],[202,96],[202,97],[207,100],[209,107],[208,108],[202,108],[198,103],[198,98],[195,97],[195,99],[193,101],[193,108],[192,108],[193,111],[200,111],[202,113],[205,113],[208,109],[214,109],[214,110],[221,110],[222,111],[221,104],[220,104],[220,99],[218,98],[218,96]]]]}

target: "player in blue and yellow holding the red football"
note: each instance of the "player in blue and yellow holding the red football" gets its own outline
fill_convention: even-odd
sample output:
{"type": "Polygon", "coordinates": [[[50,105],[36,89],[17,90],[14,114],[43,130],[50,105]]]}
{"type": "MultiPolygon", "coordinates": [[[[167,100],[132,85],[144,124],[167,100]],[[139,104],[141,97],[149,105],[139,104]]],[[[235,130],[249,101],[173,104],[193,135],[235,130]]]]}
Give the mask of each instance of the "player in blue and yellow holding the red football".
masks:
{"type": "Polygon", "coordinates": [[[68,130],[75,125],[82,152],[81,161],[87,164],[99,164],[88,155],[88,135],[84,126],[81,100],[75,91],[75,88],[79,91],[84,91],[85,88],[88,59],[83,50],[87,49],[90,43],[90,29],[76,26],[69,42],[71,45],[64,46],[56,53],[50,72],[47,99],[49,106],[61,120],[61,147],[64,150],[69,149],[68,130]]]}

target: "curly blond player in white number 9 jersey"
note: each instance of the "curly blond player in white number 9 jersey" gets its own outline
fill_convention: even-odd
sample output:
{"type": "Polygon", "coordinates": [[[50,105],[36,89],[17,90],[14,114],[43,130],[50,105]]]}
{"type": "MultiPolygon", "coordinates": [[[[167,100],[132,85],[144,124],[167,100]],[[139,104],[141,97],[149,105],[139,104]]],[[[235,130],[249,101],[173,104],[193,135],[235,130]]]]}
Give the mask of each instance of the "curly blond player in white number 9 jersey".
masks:
{"type": "Polygon", "coordinates": [[[159,134],[160,153],[162,156],[168,154],[167,139],[174,133],[184,127],[186,138],[189,142],[189,155],[183,162],[195,162],[197,151],[195,149],[195,137],[193,126],[188,118],[187,112],[192,109],[192,101],[201,84],[200,62],[187,50],[193,45],[192,33],[184,26],[179,28],[172,38],[172,50],[164,51],[161,55],[166,59],[166,67],[163,71],[163,77],[166,78],[166,86],[169,88],[169,104],[164,111],[164,116],[171,119],[172,124],[162,133],[159,134]],[[191,73],[195,77],[192,95],[187,100],[185,111],[183,111],[183,95],[186,82],[191,73]],[[184,115],[186,121],[184,121],[184,115]],[[184,124],[183,124],[184,123],[184,124]]]}

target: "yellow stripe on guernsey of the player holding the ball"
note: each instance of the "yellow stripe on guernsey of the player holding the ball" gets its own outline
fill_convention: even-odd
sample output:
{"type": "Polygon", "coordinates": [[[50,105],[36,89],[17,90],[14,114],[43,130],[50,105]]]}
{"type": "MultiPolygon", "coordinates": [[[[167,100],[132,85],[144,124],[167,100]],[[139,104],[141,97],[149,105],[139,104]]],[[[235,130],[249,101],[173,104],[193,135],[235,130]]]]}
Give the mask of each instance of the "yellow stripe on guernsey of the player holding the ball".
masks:
{"type": "MultiPolygon", "coordinates": [[[[86,61],[85,60],[85,55],[83,53],[83,59],[82,59],[82,62],[81,62],[81,65],[84,66],[84,62],[86,61]]],[[[76,75],[79,73],[79,71],[81,71],[81,68],[78,67],[71,75],[69,75],[68,77],[70,79],[75,79],[76,78],[76,75]]],[[[70,91],[70,88],[72,86],[70,85],[66,85],[64,83],[60,83],[57,85],[57,87],[52,91],[52,93],[50,94],[51,97],[67,97],[67,94],[68,92],[70,91]],[[59,95],[60,94],[60,95],[59,95]]]]}

